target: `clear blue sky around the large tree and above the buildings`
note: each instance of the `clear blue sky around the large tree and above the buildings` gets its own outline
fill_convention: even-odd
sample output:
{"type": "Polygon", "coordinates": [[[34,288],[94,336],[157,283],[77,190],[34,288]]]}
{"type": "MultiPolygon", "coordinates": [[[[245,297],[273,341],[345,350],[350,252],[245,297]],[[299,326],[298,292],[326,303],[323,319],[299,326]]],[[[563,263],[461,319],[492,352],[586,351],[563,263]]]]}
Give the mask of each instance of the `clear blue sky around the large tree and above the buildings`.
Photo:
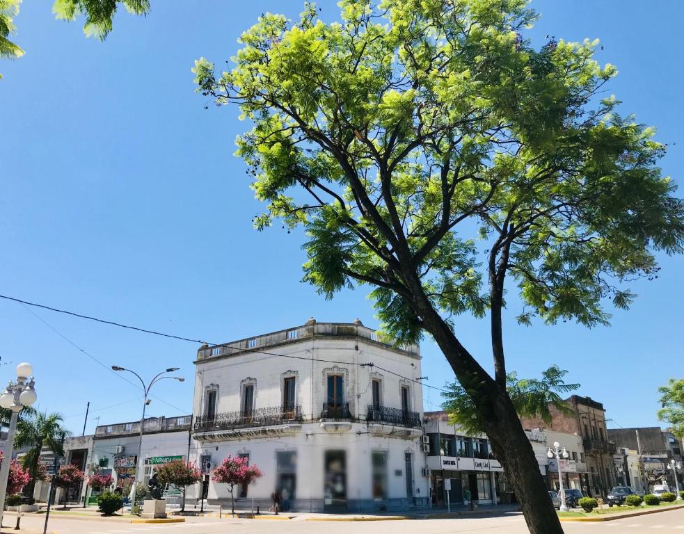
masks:
{"type": "MultiPolygon", "coordinates": [[[[337,16],[333,2],[319,5],[324,19],[337,16]]],[[[228,60],[239,33],[261,13],[296,16],[301,6],[152,0],[148,17],[122,11],[106,42],[97,42],[79,24],[55,21],[51,2],[22,4],[15,40],[26,55],[0,63],[0,294],[216,342],[310,316],[358,317],[375,326],[363,289],[326,301],[300,282],[301,233],[251,228],[260,205],[232,155],[246,124],[231,108],[205,111],[189,71],[200,56],[228,60]]],[[[532,6],[542,15],[527,35],[536,44],[547,34],[601,38],[598,59],[620,71],[610,92],[624,102],[623,113],[658,127],[658,140],[677,143],[662,167],[681,182],[684,3],[532,6]]],[[[656,388],[684,374],[684,259],[663,257],[661,265],[658,280],[632,284],[639,298],[630,312],[615,312],[611,327],[519,327],[511,311],[504,330],[509,368],[536,376],[557,363],[620,426],[657,425],[656,388]]],[[[15,364],[31,362],[39,407],[64,414],[75,433],[88,401],[88,432],[97,416],[100,423],[132,421],[141,410],[139,391],[90,356],[147,378],[181,367],[189,380],[159,383],[148,413],[189,413],[193,343],[33,314],[0,300],[0,380],[13,376],[15,364]]],[[[464,316],[456,330],[489,365],[487,321],[464,316]]],[[[449,366],[431,341],[422,351],[427,383],[442,386],[449,366]]],[[[425,400],[426,410],[440,402],[429,389],[425,400]]]]}

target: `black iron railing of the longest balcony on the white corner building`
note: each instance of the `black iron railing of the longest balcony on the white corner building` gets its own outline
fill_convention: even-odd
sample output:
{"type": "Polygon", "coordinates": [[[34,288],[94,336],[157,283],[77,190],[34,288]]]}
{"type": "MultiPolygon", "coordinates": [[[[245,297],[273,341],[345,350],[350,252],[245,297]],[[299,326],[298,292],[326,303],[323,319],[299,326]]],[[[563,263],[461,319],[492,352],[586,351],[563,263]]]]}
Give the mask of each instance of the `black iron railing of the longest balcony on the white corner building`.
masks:
{"type": "Polygon", "coordinates": [[[195,432],[209,430],[234,430],[255,426],[282,425],[293,421],[303,421],[301,405],[269,406],[240,412],[223,412],[213,416],[197,416],[193,428],[195,432]]]}

